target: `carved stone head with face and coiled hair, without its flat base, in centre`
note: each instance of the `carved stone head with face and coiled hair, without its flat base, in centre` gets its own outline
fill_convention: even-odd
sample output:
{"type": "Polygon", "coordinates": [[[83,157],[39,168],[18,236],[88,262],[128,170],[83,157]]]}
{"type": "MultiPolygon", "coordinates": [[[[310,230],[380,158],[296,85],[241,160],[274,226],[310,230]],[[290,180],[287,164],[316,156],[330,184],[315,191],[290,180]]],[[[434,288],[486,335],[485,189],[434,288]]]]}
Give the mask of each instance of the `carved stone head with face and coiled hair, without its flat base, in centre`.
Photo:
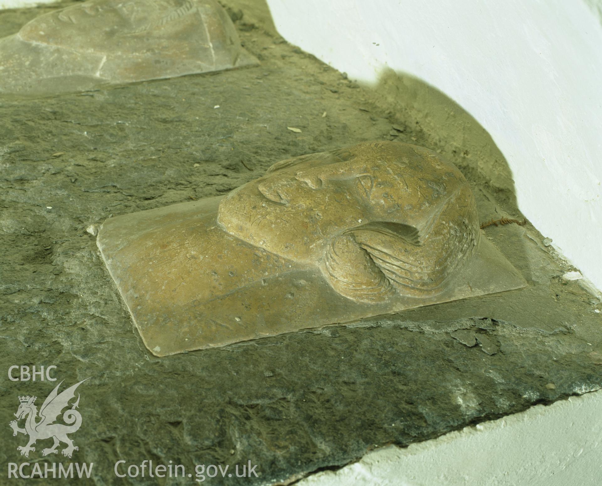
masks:
{"type": "Polygon", "coordinates": [[[226,196],[217,220],[283,258],[319,262],[338,293],[362,302],[441,291],[480,235],[455,166],[385,142],[277,163],[226,196]]]}

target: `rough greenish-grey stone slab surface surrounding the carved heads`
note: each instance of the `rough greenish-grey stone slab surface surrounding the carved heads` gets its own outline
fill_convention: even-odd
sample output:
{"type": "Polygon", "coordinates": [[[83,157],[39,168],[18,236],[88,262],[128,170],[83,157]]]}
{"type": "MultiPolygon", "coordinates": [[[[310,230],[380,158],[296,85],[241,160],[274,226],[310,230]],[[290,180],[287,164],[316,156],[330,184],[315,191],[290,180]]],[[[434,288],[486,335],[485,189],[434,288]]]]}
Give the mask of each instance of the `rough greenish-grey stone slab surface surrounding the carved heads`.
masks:
{"type": "MultiPolygon", "coordinates": [[[[34,14],[0,13],[0,35],[34,14]]],[[[191,484],[117,481],[117,460],[171,460],[190,472],[194,464],[250,460],[258,479],[210,484],[284,481],[383,444],[403,446],[602,386],[600,301],[580,281],[560,278],[575,269],[529,223],[485,229],[529,282],[523,290],[223,349],[147,352],[96,249],[94,226],[110,214],[221,195],[274,161],[390,137],[447,153],[470,182],[481,221],[520,217],[512,193],[480,170],[499,172],[503,160],[465,153],[458,134],[467,131],[452,115],[435,136],[421,129],[420,114],[428,118],[432,106],[387,113],[371,90],[249,18],[244,11],[237,26],[261,58],[258,68],[0,99],[3,476],[7,463],[24,461],[16,447],[25,437],[8,428],[17,395],[42,400],[55,385],[8,381],[12,364],[54,364],[64,385],[92,376],[78,388],[83,423],[70,461],[95,463],[97,485],[191,484]]],[[[70,462],[42,458],[50,445],[36,444],[27,461],[70,462]]]]}

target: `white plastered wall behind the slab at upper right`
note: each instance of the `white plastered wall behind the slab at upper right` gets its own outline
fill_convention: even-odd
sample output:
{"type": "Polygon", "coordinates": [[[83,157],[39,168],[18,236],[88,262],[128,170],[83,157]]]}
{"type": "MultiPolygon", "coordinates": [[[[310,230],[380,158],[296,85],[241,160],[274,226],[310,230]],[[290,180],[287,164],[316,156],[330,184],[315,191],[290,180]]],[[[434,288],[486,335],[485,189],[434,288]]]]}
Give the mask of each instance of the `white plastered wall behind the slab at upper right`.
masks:
{"type": "Polygon", "coordinates": [[[285,39],[350,78],[390,67],[474,116],[521,211],[602,288],[601,0],[587,1],[267,0],[285,39]]]}

